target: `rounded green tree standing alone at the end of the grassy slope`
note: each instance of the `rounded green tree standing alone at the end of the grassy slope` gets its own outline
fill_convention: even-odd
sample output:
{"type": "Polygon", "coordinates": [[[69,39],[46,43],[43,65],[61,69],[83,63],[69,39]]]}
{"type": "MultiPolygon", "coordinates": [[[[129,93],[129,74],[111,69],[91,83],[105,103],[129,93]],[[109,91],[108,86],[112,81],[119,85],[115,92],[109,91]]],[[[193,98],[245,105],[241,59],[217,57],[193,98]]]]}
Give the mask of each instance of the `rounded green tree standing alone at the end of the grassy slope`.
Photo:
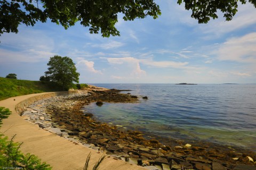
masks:
{"type": "Polygon", "coordinates": [[[62,90],[68,90],[72,87],[73,82],[79,82],[79,73],[76,72],[76,66],[69,57],[61,57],[55,55],[50,58],[47,63],[48,71],[44,72],[45,77],[48,77],[50,81],[58,83],[62,90]]]}

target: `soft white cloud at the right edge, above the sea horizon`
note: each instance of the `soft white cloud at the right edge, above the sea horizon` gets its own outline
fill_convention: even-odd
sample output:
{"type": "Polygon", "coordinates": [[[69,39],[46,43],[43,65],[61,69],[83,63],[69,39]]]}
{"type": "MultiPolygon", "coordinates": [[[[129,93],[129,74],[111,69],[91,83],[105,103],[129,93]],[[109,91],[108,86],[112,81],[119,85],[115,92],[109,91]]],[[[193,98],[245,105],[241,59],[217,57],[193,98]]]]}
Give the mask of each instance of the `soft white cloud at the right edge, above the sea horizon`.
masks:
{"type": "Polygon", "coordinates": [[[256,32],[228,39],[217,49],[219,60],[256,64],[256,32]]]}

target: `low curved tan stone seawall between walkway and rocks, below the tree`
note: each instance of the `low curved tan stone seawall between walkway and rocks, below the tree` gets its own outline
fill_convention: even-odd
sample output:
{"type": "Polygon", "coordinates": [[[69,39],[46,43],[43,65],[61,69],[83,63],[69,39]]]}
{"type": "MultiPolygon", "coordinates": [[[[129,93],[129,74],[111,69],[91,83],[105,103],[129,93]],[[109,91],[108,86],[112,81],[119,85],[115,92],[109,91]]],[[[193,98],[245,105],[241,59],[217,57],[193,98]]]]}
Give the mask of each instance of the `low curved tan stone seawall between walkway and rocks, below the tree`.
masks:
{"type": "Polygon", "coordinates": [[[15,105],[15,111],[20,115],[22,113],[22,111],[24,111],[29,105],[31,105],[35,101],[46,99],[46,98],[51,98],[51,97],[55,97],[55,96],[74,94],[76,92],[77,91],[49,92],[47,94],[30,97],[26,100],[21,101],[17,105],[15,105]]]}

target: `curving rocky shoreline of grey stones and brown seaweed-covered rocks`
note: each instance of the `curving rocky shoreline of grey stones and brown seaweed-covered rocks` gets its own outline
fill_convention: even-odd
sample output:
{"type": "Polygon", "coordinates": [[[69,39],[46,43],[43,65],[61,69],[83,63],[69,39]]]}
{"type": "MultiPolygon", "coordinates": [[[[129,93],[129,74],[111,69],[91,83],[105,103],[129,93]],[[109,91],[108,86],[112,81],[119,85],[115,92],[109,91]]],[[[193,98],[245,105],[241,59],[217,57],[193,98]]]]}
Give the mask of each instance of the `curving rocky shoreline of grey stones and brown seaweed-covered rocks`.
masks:
{"type": "Polygon", "coordinates": [[[254,152],[225,146],[211,147],[205,143],[190,145],[180,141],[163,145],[156,139],[146,139],[138,131],[94,120],[84,114],[82,106],[92,102],[138,102],[137,96],[119,93],[122,90],[90,86],[76,94],[57,96],[37,101],[21,116],[51,133],[60,135],[77,145],[103,152],[116,159],[145,166],[147,169],[255,169],[254,152]]]}

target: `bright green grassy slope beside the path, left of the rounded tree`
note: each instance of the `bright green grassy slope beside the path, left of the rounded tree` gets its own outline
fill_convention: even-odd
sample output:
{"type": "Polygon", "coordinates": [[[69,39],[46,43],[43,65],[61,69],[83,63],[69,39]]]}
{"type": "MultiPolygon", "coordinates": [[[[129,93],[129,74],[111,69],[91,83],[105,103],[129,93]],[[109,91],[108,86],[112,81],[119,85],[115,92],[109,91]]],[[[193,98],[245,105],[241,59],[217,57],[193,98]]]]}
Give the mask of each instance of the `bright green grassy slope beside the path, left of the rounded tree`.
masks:
{"type": "Polygon", "coordinates": [[[40,92],[59,91],[50,82],[14,80],[0,77],[0,100],[9,97],[36,94],[40,92]]]}

